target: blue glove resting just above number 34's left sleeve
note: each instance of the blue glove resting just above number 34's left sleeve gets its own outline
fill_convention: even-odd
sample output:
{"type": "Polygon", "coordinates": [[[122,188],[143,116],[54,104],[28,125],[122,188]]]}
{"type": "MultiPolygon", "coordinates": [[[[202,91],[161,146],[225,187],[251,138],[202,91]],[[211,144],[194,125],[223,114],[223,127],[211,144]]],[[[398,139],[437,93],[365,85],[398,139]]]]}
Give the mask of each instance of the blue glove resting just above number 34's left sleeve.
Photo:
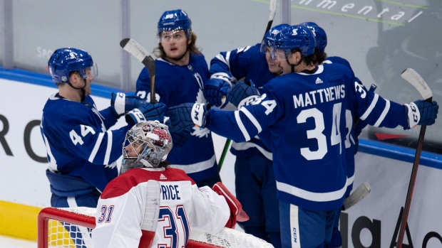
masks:
{"type": "Polygon", "coordinates": [[[255,87],[255,84],[250,80],[249,82],[238,81],[233,85],[229,95],[227,95],[227,101],[235,105],[238,109],[246,104],[245,99],[256,99],[259,97],[259,91],[255,87]]]}

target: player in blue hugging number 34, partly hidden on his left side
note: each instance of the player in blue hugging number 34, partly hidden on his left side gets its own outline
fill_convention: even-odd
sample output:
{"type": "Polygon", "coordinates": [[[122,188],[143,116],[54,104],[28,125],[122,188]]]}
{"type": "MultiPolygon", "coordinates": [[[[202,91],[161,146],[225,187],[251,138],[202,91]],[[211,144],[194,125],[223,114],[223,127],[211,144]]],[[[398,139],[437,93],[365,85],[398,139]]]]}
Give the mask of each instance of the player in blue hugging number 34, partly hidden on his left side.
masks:
{"type": "MultiPolygon", "coordinates": [[[[235,90],[229,91],[230,85],[234,85],[235,89],[240,87],[238,90],[245,89],[238,85],[244,82],[236,82],[237,79],[244,78],[245,82],[262,87],[281,74],[281,68],[270,58],[270,45],[273,45],[277,33],[288,27],[288,24],[274,26],[265,34],[262,43],[221,52],[213,58],[210,61],[210,80],[204,87],[207,101],[220,106],[222,97],[227,95],[227,101],[237,106],[242,96],[235,94],[235,90]]],[[[241,227],[246,233],[272,242],[274,247],[281,247],[272,152],[257,138],[247,142],[233,141],[230,151],[236,156],[236,196],[250,216],[250,220],[242,222],[241,227]]]]}

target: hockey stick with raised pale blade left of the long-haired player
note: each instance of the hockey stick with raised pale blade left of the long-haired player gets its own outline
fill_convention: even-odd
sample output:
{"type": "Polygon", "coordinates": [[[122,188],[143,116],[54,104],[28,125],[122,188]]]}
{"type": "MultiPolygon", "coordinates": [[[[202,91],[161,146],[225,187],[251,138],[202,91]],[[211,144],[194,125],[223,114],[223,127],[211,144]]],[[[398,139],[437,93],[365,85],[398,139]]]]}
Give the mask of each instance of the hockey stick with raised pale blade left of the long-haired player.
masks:
{"type": "Polygon", "coordinates": [[[121,40],[120,46],[148,68],[150,79],[150,103],[155,103],[155,60],[153,60],[152,56],[150,56],[140,44],[133,41],[131,38],[124,38],[121,40]]]}

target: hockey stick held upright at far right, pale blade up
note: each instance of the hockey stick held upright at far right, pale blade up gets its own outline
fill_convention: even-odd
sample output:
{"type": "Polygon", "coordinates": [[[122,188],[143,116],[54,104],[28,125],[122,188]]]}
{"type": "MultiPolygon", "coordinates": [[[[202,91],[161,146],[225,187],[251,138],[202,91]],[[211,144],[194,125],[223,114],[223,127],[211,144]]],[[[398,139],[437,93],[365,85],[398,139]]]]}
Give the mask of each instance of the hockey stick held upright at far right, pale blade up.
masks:
{"type": "MultiPolygon", "coordinates": [[[[418,72],[411,68],[408,68],[404,70],[404,72],[402,72],[401,77],[411,83],[411,85],[413,85],[416,90],[421,93],[421,96],[426,102],[431,102],[431,100],[433,99],[433,93],[431,92],[430,87],[428,87],[421,75],[418,74],[418,72]]],[[[399,229],[398,243],[396,246],[397,248],[402,248],[402,242],[404,241],[404,234],[408,220],[408,212],[410,212],[411,198],[413,197],[414,184],[416,183],[416,176],[418,174],[419,159],[421,158],[425,131],[426,125],[422,125],[421,132],[419,133],[416,155],[414,156],[413,168],[411,170],[410,183],[408,184],[408,192],[405,200],[404,213],[402,214],[401,218],[401,228],[399,229]]]]}

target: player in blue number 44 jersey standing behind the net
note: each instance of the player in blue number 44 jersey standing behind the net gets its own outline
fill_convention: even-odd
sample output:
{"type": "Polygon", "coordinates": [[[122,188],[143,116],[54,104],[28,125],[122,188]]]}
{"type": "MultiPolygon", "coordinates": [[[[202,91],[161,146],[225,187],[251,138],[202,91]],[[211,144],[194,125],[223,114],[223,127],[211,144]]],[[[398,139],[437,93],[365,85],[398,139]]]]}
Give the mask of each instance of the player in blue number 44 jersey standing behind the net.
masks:
{"type": "Polygon", "coordinates": [[[58,93],[49,97],[41,117],[51,206],[96,207],[100,193],[118,174],[116,160],[125,132],[145,119],[163,118],[165,106],[118,93],[112,95],[111,107],[98,111],[90,96],[96,64],[83,50],[56,50],[48,68],[58,85],[58,93]],[[128,125],[108,130],[124,114],[128,125]]]}

